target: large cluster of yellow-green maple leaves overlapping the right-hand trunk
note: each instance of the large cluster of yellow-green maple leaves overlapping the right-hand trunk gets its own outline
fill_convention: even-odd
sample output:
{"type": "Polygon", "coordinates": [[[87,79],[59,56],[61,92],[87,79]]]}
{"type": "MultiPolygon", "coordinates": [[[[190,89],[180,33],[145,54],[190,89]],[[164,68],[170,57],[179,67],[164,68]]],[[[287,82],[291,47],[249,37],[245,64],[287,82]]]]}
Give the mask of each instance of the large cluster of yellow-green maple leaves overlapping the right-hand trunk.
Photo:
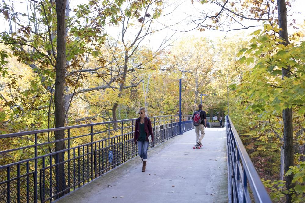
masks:
{"type": "MultiPolygon", "coordinates": [[[[278,44],[281,39],[270,34],[270,26],[264,31],[256,31],[249,44],[249,48],[240,50],[239,63],[250,65],[253,69],[244,76],[238,92],[246,95],[247,100],[267,105],[266,108],[257,108],[251,105],[255,112],[262,112],[266,116],[280,113],[285,108],[297,107],[298,112],[304,112],[304,43],[299,46],[278,44]],[[282,68],[289,68],[292,77],[282,80],[282,68]],[[264,96],[263,96],[264,95],[264,96]]],[[[303,123],[304,125],[304,123],[303,123]]]]}

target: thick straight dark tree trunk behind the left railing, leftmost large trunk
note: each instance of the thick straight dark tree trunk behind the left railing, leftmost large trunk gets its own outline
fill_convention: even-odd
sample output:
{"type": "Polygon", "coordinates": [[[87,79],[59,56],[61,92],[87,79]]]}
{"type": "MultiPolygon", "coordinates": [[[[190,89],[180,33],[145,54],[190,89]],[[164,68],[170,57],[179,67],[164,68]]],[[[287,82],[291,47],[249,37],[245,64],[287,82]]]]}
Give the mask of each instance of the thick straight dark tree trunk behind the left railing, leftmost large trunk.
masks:
{"type": "MultiPolygon", "coordinates": [[[[57,15],[57,54],[56,54],[56,78],[55,78],[55,127],[65,126],[65,108],[64,108],[64,86],[65,86],[65,70],[66,70],[66,22],[65,22],[66,0],[56,0],[56,15],[57,15]]],[[[63,130],[55,131],[55,139],[60,140],[65,138],[63,130]]],[[[55,143],[55,151],[65,149],[65,142],[60,141],[55,143]]],[[[59,153],[56,157],[56,162],[64,160],[63,153],[59,153]],[[58,158],[57,158],[58,157],[58,158]]],[[[63,191],[65,188],[64,167],[58,165],[57,176],[58,190],[63,191]]],[[[63,196],[59,194],[59,196],[63,196]]]]}

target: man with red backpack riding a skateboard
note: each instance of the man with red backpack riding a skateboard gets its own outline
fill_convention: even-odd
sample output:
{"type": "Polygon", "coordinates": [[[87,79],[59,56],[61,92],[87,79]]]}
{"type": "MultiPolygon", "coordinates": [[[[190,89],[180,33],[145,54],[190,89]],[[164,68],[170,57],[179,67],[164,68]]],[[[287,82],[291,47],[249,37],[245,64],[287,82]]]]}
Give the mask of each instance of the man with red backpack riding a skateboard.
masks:
{"type": "Polygon", "coordinates": [[[198,105],[198,110],[194,112],[193,123],[195,126],[196,133],[196,144],[195,147],[202,146],[201,140],[204,137],[204,128],[206,128],[206,112],[202,110],[202,104],[198,105]],[[199,135],[200,132],[200,135],[199,135]]]}

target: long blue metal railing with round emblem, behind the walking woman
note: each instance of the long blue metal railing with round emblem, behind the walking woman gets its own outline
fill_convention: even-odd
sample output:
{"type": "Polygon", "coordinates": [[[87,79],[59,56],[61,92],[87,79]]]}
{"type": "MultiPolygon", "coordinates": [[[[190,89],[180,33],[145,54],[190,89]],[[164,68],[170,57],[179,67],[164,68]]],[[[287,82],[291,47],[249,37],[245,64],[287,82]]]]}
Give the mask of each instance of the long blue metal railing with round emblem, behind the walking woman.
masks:
{"type": "MultiPolygon", "coordinates": [[[[181,116],[181,122],[177,115],[150,119],[155,139],[149,149],[194,127],[190,116],[181,116]]],[[[11,160],[0,166],[0,202],[52,202],[137,156],[135,120],[0,135],[1,143],[15,143],[0,151],[11,160]],[[65,138],[52,139],[59,130],[65,138]],[[55,151],[56,142],[64,142],[66,149],[55,151]],[[56,161],[59,156],[63,161],[56,161]]]]}

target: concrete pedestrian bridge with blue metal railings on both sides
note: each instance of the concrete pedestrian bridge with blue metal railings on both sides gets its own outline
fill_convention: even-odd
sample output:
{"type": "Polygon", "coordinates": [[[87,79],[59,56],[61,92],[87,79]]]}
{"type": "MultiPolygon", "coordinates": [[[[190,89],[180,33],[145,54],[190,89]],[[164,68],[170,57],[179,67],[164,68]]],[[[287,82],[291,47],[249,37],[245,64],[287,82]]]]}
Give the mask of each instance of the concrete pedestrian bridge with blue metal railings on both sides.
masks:
{"type": "Polygon", "coordinates": [[[135,119],[0,135],[34,142],[0,152],[32,154],[0,166],[0,203],[271,202],[228,116],[226,128],[205,129],[201,149],[193,149],[189,116],[151,120],[145,172],[133,143],[135,119]],[[43,140],[58,130],[66,138],[43,140]],[[52,151],[58,142],[65,149],[52,151]]]}

